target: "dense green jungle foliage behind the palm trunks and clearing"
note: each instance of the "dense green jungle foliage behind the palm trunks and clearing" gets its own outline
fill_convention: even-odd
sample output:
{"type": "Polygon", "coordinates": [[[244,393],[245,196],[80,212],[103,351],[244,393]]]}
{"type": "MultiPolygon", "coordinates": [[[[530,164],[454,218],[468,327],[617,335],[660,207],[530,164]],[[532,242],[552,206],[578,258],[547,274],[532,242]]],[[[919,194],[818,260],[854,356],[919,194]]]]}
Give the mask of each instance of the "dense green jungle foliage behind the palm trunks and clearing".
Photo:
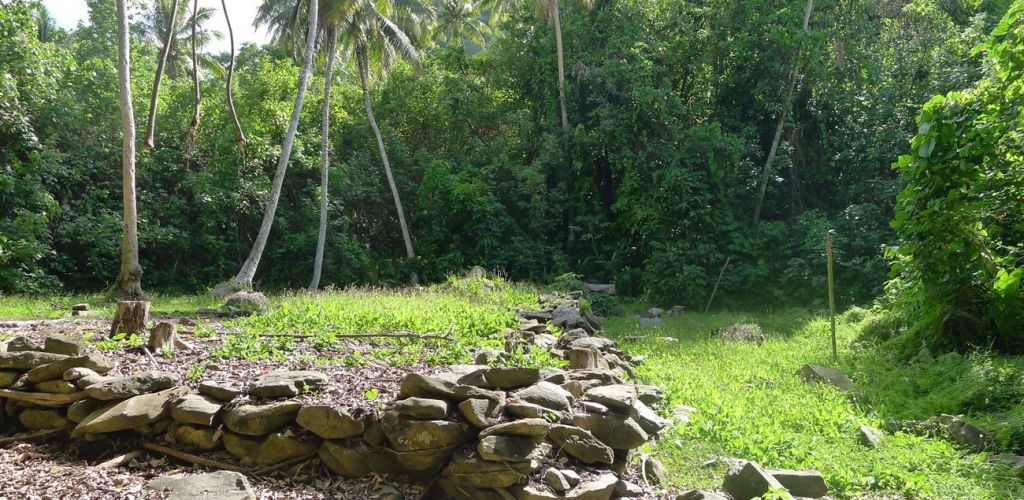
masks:
{"type": "MultiPolygon", "coordinates": [[[[102,289],[116,276],[122,224],[113,2],[89,0],[88,23],[72,31],[41,22],[38,2],[0,3],[0,292],[102,289]]],[[[702,307],[729,259],[717,303],[821,306],[831,230],[841,306],[882,294],[892,262],[901,324],[936,339],[970,332],[955,333],[955,346],[1019,350],[1020,3],[826,0],[803,33],[806,3],[562,2],[566,136],[555,37],[532,5],[479,43],[430,36],[433,25],[410,31],[419,61],[371,86],[415,259],[404,257],[356,65],[342,57],[323,283],[403,282],[411,270],[435,281],[481,265],[516,280],[574,273],[702,307]],[[791,75],[792,109],[755,222],[791,75]]],[[[142,117],[162,42],[148,2],[133,5],[142,117]]],[[[239,268],[296,93],[292,47],[242,47],[240,148],[223,91],[228,57],[206,57],[189,148],[186,55],[169,59],[156,148],[138,158],[148,290],[203,290],[239,268]]],[[[312,270],[323,67],[262,288],[304,286],[312,270]]]]}

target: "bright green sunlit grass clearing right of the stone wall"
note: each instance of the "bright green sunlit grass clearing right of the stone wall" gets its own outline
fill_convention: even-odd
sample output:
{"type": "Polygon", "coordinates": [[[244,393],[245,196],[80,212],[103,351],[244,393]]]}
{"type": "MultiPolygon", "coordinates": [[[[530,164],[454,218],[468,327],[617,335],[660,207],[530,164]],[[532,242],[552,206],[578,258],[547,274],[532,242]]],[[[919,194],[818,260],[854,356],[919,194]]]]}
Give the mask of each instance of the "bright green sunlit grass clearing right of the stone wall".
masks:
{"type": "MultiPolygon", "coordinates": [[[[613,335],[650,334],[630,318],[606,322],[613,335]]],[[[863,350],[852,350],[856,325],[840,325],[840,367],[887,370],[891,385],[867,390],[859,400],[830,387],[808,385],[794,373],[806,363],[830,361],[828,322],[805,311],[771,315],[687,314],[667,319],[659,335],[679,339],[627,342],[648,355],[639,376],[666,389],[670,408],[695,407],[689,426],[676,427],[653,452],[664,459],[673,481],[684,488],[721,485],[727,466],[705,466],[718,457],[752,459],[782,468],[814,468],[824,473],[841,498],[886,495],[915,498],[1020,498],[1020,480],[985,465],[983,455],[965,454],[939,439],[897,433],[876,450],[861,446],[860,424],[882,427],[888,409],[912,394],[908,373],[895,364],[871,365],[863,350]],[[756,322],[770,333],[763,345],[713,339],[718,327],[756,322]],[[880,398],[889,393],[888,400],[880,398]]],[[[855,381],[868,380],[852,370],[855,381]]],[[[903,404],[911,403],[909,400],[903,404]]]]}

